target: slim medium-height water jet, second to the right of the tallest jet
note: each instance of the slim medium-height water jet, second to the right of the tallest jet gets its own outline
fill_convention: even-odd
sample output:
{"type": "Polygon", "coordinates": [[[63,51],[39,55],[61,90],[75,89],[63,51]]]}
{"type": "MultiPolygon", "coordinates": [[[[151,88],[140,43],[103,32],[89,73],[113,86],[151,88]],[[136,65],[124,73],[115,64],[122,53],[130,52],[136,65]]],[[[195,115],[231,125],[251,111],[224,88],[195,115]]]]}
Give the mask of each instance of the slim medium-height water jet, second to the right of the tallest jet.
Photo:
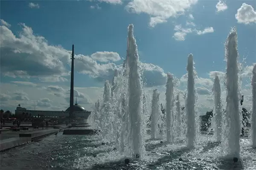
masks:
{"type": "Polygon", "coordinates": [[[166,82],[166,141],[173,142],[172,113],[173,112],[173,77],[167,73],[166,82]]]}

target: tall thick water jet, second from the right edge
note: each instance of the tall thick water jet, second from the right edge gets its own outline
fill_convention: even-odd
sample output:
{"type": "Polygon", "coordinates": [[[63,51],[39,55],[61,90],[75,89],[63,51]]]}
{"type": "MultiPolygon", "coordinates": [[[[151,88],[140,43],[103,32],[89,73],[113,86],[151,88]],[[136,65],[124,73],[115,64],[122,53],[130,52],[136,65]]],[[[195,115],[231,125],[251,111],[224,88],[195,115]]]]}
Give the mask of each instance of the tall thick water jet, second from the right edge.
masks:
{"type": "Polygon", "coordinates": [[[228,130],[228,156],[239,158],[240,153],[240,111],[238,96],[238,51],[236,28],[232,28],[225,44],[227,60],[226,86],[227,86],[227,130],[228,130]]]}

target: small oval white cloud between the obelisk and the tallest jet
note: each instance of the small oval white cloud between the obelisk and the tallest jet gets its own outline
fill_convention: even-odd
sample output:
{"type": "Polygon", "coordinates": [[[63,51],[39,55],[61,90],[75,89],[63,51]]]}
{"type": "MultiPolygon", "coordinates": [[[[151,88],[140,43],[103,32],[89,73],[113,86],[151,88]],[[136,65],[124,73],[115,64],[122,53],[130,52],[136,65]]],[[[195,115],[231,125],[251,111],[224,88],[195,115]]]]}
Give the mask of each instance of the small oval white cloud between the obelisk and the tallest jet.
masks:
{"type": "Polygon", "coordinates": [[[96,53],[93,53],[91,55],[91,58],[99,62],[116,62],[121,59],[118,53],[109,51],[98,51],[96,53]]]}

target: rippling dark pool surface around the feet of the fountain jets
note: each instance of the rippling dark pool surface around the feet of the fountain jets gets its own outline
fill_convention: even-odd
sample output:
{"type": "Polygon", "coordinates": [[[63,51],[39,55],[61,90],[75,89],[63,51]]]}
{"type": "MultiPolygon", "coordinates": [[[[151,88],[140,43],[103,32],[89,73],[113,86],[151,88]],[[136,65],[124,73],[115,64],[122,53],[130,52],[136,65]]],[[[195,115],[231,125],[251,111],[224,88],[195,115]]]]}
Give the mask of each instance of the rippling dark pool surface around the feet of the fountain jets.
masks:
{"type": "Polygon", "coordinates": [[[1,170],[218,170],[256,169],[256,150],[251,149],[249,139],[241,140],[241,158],[238,163],[221,159],[219,143],[209,142],[202,136],[200,146],[187,149],[185,141],[176,144],[148,140],[146,157],[125,165],[112,144],[103,144],[98,136],[65,136],[58,133],[38,142],[16,147],[1,153],[1,170]]]}

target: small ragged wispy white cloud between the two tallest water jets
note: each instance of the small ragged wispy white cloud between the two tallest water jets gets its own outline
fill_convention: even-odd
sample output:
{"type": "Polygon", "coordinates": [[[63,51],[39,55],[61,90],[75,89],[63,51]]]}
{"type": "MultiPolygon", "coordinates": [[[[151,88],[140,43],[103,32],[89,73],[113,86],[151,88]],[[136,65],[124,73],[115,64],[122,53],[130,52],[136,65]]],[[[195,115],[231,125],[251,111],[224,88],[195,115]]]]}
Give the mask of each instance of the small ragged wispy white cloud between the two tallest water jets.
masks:
{"type": "MultiPolygon", "coordinates": [[[[195,26],[195,23],[187,22],[187,26],[195,26]]],[[[187,34],[196,33],[198,35],[207,34],[214,32],[214,29],[212,27],[204,28],[204,30],[198,30],[196,28],[183,28],[180,25],[176,25],[174,28],[174,31],[176,31],[173,35],[174,39],[177,41],[184,41],[187,34]]]]}

